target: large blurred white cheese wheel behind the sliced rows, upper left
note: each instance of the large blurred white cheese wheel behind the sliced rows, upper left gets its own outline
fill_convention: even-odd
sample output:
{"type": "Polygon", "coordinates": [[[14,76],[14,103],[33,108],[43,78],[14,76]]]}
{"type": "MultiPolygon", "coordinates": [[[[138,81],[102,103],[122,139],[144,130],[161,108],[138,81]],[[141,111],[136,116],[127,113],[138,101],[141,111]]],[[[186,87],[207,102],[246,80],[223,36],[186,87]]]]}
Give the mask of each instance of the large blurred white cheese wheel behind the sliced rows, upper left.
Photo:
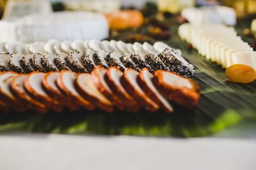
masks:
{"type": "Polygon", "coordinates": [[[108,21],[99,13],[64,11],[0,21],[0,41],[91,40],[107,38],[108,34],[108,21]]]}

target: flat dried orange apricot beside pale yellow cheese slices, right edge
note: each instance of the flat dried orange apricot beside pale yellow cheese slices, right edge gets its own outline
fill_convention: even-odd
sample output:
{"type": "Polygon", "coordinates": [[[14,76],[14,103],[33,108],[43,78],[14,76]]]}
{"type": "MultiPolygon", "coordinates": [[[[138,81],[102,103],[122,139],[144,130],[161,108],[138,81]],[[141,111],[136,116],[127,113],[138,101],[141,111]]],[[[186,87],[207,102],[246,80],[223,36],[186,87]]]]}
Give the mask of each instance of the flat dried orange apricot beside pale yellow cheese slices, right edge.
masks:
{"type": "Polygon", "coordinates": [[[252,83],[256,80],[256,71],[244,64],[234,64],[225,71],[228,79],[236,83],[252,83]]]}

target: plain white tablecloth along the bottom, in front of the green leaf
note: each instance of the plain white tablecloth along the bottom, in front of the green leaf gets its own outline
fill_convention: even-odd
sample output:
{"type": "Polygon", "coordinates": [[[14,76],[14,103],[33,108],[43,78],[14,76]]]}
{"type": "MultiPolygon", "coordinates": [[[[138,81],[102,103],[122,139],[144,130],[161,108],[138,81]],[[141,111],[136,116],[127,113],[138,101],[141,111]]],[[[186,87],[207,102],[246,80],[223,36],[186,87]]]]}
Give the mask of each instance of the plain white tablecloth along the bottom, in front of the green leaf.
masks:
{"type": "Polygon", "coordinates": [[[0,169],[255,170],[256,140],[1,134],[0,169]]]}

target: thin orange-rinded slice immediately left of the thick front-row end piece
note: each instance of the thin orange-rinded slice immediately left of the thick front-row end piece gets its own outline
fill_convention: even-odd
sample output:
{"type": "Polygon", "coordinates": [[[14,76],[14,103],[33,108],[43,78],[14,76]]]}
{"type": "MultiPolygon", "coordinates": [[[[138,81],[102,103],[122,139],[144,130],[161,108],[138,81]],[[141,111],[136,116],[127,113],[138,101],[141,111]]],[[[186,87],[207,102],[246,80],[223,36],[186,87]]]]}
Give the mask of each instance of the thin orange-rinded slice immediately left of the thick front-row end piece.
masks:
{"type": "Polygon", "coordinates": [[[161,109],[166,111],[166,113],[172,113],[172,104],[170,104],[156,89],[152,81],[153,77],[153,74],[151,74],[147,68],[142,69],[138,77],[138,83],[141,89],[143,89],[145,94],[147,94],[148,97],[152,99],[152,101],[154,101],[158,106],[160,106],[161,109]]]}

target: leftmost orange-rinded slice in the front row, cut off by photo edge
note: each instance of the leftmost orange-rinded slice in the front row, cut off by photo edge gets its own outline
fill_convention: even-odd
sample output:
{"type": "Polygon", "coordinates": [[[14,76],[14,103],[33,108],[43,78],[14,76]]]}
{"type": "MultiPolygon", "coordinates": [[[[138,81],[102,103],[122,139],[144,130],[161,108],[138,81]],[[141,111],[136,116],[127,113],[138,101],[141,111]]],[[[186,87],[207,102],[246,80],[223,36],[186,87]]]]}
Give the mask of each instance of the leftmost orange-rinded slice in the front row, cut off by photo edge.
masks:
{"type": "Polygon", "coordinates": [[[6,103],[12,110],[24,112],[27,110],[26,106],[17,101],[15,96],[10,89],[12,78],[17,76],[17,73],[14,72],[5,72],[0,74],[0,101],[6,103]]]}

